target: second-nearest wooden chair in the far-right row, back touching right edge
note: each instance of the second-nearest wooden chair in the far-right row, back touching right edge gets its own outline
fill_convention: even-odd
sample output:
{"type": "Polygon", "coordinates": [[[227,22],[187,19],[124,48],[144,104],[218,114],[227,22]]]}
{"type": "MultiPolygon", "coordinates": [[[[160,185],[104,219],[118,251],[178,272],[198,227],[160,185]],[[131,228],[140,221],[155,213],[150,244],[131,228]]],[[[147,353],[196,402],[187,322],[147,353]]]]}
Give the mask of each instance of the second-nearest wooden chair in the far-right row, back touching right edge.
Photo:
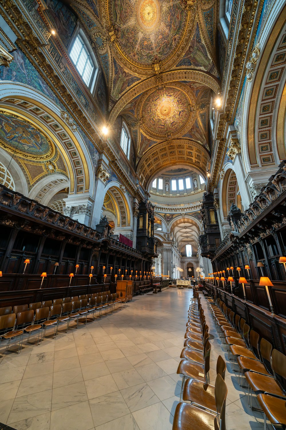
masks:
{"type": "Polygon", "coordinates": [[[271,367],[273,370],[274,378],[268,375],[261,375],[255,372],[245,372],[245,379],[248,382],[248,405],[252,407],[252,392],[256,395],[270,394],[274,397],[281,397],[286,399],[286,356],[281,352],[274,349],[271,354],[271,367]],[[250,397],[250,404],[249,404],[250,397]]]}

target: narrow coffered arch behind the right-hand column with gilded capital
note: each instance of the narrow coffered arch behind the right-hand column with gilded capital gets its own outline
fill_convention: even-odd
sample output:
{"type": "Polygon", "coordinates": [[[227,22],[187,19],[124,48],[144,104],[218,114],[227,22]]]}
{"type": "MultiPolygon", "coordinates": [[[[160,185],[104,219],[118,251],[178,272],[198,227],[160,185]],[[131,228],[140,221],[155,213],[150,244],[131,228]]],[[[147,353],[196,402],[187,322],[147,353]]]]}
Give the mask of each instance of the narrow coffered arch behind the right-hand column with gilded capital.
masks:
{"type": "Polygon", "coordinates": [[[238,180],[235,171],[232,169],[227,169],[222,183],[222,206],[221,211],[223,212],[223,218],[226,219],[229,214],[229,209],[232,203],[237,206],[241,212],[243,212],[241,206],[241,196],[239,194],[238,180]]]}

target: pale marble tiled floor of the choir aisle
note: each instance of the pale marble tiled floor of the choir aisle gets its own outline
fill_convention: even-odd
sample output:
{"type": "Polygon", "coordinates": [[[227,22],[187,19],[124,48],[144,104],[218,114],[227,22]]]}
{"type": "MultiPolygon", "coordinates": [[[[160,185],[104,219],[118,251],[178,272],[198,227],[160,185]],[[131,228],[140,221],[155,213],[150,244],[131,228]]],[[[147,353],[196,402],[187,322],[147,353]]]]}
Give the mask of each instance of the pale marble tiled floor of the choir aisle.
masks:
{"type": "MultiPolygon", "coordinates": [[[[170,430],[180,398],[176,374],[191,290],[170,288],[133,298],[127,307],[57,339],[0,349],[0,422],[18,430],[170,430]]],[[[227,430],[263,428],[238,385],[202,297],[217,357],[227,361],[227,430]]],[[[31,340],[33,340],[31,338],[31,340]]]]}

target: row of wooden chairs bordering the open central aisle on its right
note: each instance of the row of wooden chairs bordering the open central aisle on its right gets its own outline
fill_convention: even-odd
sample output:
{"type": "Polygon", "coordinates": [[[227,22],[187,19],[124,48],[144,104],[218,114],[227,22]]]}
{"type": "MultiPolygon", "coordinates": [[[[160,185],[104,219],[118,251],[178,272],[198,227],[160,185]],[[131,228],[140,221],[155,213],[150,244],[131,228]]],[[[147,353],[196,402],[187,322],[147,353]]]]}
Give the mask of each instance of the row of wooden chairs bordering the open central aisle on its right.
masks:
{"type": "Polygon", "coordinates": [[[181,396],[174,415],[173,430],[225,430],[226,363],[221,356],[218,357],[215,385],[210,385],[209,328],[196,292],[191,300],[186,326],[182,360],[177,370],[177,374],[182,375],[181,396]]]}

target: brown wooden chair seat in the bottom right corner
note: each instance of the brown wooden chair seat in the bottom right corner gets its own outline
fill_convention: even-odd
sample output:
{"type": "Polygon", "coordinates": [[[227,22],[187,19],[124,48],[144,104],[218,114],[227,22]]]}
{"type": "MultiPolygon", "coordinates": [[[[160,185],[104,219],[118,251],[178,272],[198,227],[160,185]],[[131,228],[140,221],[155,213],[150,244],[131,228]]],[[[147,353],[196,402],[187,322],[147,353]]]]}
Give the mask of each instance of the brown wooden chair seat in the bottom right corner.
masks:
{"type": "Polygon", "coordinates": [[[265,429],[266,417],[273,427],[286,427],[286,399],[277,399],[277,397],[269,396],[268,394],[259,394],[257,400],[264,412],[265,429]]]}

